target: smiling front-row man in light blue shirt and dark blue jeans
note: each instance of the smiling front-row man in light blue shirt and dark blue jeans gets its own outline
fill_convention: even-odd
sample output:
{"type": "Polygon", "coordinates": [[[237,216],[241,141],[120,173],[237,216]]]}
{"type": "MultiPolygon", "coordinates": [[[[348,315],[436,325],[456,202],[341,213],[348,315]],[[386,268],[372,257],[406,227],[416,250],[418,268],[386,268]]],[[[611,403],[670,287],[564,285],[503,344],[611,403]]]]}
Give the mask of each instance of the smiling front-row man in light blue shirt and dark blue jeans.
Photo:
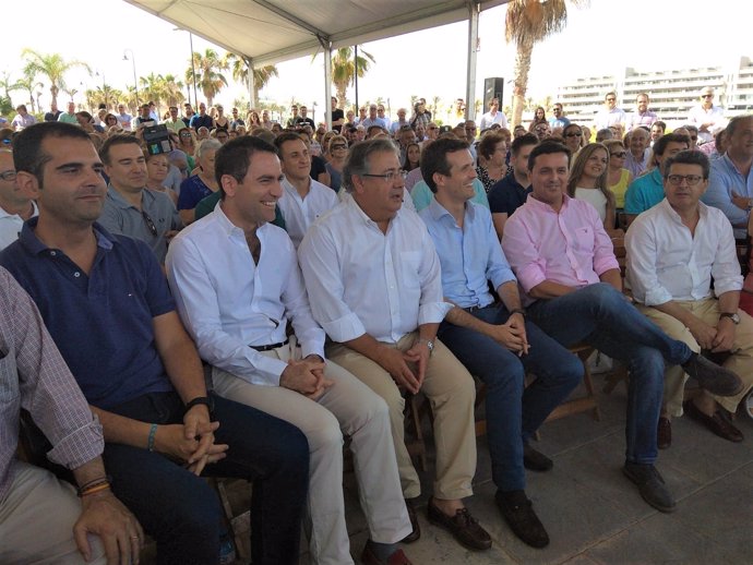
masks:
{"type": "Polygon", "coordinates": [[[435,197],[419,215],[440,257],[444,299],[454,304],[438,336],[487,385],[487,432],[500,510],[518,538],[543,548],[549,536],[525,494],[524,467],[543,471],[552,461],[527,441],[577,386],[583,365],[526,322],[491,214],[471,202],[476,169],[468,145],[435,141],[423,151],[421,173],[435,197]],[[489,291],[489,281],[501,302],[489,291]],[[537,378],[524,394],[529,371],[537,378]]]}

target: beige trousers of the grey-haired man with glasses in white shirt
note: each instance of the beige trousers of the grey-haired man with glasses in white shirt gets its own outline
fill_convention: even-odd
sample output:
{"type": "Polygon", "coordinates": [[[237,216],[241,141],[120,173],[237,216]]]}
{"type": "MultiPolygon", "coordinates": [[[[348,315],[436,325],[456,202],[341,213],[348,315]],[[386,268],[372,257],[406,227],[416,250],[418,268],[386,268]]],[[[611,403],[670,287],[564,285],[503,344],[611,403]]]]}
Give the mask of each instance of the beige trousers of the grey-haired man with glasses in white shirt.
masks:
{"type": "MultiPolygon", "coordinates": [[[[413,332],[392,347],[407,351],[417,338],[418,334],[413,332]]],[[[392,376],[371,359],[340,344],[330,346],[327,357],[386,400],[403,495],[406,498],[418,496],[421,483],[405,446],[405,399],[392,376]]],[[[465,366],[439,339],[434,342],[421,392],[429,399],[434,414],[437,478],[433,495],[441,500],[470,496],[470,483],[476,473],[476,387],[465,366]]]]}

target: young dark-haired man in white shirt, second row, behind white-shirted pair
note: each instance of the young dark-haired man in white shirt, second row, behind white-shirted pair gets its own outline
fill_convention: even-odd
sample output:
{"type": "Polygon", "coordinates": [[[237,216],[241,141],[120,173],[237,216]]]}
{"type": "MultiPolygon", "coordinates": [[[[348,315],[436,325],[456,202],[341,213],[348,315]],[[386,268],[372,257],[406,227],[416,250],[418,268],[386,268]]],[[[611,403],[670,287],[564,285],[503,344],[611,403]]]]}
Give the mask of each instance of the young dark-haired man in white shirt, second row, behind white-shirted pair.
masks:
{"type": "Polygon", "coordinates": [[[297,133],[279,134],[275,146],[285,175],[279,212],[285,219],[285,229],[298,249],[309,226],[337,205],[337,193],[311,178],[311,155],[297,133]]]}

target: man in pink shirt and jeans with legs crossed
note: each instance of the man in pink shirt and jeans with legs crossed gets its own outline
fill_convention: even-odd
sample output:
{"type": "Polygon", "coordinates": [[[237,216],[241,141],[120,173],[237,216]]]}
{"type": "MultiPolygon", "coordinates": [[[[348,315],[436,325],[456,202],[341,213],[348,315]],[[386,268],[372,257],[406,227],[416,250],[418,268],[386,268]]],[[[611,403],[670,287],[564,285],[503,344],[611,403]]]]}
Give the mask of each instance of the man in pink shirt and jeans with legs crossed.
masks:
{"type": "Polygon", "coordinates": [[[671,339],[622,294],[611,240],[596,209],[567,196],[570,149],[537,145],[528,158],[533,193],[504,227],[502,247],[527,298],[527,315],[565,347],[587,342],[630,370],[623,471],[643,498],[676,508],[659,471],[656,429],[665,362],[682,365],[698,384],[732,396],[740,378],[671,339]]]}

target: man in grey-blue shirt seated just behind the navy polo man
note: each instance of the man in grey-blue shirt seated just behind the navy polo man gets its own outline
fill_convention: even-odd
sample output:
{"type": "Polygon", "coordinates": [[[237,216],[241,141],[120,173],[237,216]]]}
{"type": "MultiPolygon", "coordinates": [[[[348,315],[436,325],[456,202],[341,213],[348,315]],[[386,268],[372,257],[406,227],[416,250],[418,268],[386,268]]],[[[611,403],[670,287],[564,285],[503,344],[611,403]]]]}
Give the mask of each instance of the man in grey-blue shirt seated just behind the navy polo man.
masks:
{"type": "Polygon", "coordinates": [[[165,263],[169,240],[183,228],[170,197],[146,189],[146,158],[132,135],[113,135],[99,151],[105,173],[110,179],[99,216],[111,233],[140,239],[165,263]]]}

